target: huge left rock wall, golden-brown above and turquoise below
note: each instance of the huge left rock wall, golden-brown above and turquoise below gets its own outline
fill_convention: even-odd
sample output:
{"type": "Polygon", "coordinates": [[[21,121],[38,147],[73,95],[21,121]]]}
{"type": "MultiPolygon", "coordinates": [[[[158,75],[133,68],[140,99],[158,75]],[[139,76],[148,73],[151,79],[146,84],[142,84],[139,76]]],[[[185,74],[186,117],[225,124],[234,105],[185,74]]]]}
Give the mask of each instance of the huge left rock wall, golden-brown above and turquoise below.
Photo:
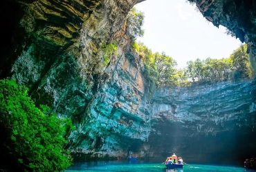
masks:
{"type": "Polygon", "coordinates": [[[125,34],[125,17],[135,3],[15,2],[19,34],[25,36],[13,34],[15,53],[1,63],[1,78],[26,85],[37,105],[73,120],[73,153],[126,156],[133,140],[149,136],[143,65],[125,34]],[[104,65],[102,45],[113,41],[118,53],[104,65]]]}

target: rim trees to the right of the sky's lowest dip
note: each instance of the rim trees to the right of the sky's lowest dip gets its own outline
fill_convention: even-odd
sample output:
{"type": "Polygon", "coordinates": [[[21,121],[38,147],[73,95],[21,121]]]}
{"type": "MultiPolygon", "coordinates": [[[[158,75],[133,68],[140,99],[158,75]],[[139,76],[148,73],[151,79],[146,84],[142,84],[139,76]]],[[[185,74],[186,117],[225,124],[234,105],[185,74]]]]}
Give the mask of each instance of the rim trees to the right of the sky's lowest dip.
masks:
{"type": "Polygon", "coordinates": [[[250,67],[246,44],[241,45],[230,58],[207,58],[201,61],[188,61],[185,76],[193,83],[216,83],[223,80],[252,78],[254,72],[250,67]]]}

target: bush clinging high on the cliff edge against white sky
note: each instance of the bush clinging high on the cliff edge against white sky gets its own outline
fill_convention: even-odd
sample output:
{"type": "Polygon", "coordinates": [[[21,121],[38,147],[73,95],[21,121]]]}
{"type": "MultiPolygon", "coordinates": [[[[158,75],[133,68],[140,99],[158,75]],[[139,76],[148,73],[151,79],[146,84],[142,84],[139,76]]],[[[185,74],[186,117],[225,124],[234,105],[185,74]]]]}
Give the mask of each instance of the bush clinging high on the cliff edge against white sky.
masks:
{"type": "Polygon", "coordinates": [[[135,40],[138,36],[143,36],[144,17],[143,12],[137,11],[136,8],[131,8],[129,11],[127,15],[127,33],[131,36],[131,40],[135,40]]]}

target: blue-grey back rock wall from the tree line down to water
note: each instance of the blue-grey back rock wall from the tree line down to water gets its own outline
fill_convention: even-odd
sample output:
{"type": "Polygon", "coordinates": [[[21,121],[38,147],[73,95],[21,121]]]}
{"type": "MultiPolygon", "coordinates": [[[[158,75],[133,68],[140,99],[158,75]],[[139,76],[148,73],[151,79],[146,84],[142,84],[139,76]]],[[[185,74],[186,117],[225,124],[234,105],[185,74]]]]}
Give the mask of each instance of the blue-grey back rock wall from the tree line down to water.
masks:
{"type": "Polygon", "coordinates": [[[159,89],[152,99],[155,122],[149,136],[151,150],[158,151],[151,154],[241,164],[256,151],[255,95],[255,81],[159,89]]]}

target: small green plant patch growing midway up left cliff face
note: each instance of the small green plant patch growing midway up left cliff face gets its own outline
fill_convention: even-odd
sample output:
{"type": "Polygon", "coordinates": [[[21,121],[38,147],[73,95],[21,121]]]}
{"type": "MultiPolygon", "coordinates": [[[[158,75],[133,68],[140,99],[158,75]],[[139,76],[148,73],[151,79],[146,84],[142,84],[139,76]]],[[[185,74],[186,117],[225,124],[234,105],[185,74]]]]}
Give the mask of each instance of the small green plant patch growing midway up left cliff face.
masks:
{"type": "Polygon", "coordinates": [[[110,44],[103,44],[101,46],[101,49],[103,50],[103,60],[104,66],[107,66],[109,64],[110,61],[110,56],[111,55],[117,55],[118,54],[118,47],[117,47],[117,43],[116,41],[114,43],[110,43],[110,44]]]}

